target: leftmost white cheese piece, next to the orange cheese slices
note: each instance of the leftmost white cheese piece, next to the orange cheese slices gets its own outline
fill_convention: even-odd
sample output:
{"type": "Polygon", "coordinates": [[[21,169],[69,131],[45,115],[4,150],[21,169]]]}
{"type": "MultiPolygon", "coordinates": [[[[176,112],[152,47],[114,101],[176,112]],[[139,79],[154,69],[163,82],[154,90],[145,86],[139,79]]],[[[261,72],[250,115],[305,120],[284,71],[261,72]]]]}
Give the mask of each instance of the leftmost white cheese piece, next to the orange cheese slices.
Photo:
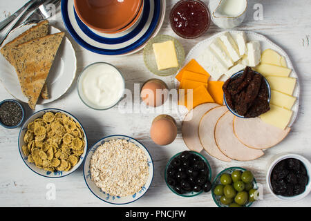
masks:
{"type": "Polygon", "coordinates": [[[228,70],[223,62],[216,57],[209,48],[207,48],[196,60],[216,81],[228,70]]]}

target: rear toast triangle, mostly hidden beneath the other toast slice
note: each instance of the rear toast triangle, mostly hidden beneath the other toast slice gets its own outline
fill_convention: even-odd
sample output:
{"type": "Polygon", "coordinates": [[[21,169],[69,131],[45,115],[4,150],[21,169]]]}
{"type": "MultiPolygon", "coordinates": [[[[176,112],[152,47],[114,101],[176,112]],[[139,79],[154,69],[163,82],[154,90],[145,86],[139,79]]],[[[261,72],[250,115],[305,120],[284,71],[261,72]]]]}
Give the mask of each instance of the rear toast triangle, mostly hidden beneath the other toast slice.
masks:
{"type": "MultiPolygon", "coordinates": [[[[48,20],[44,20],[39,22],[36,26],[32,26],[32,28],[26,30],[21,35],[10,41],[8,44],[1,48],[1,54],[14,66],[15,61],[12,61],[11,51],[12,48],[15,48],[19,44],[23,44],[32,39],[37,39],[38,37],[44,37],[48,35],[48,20]]],[[[42,92],[41,97],[44,99],[49,99],[48,97],[48,87],[45,85],[42,92]]]]}

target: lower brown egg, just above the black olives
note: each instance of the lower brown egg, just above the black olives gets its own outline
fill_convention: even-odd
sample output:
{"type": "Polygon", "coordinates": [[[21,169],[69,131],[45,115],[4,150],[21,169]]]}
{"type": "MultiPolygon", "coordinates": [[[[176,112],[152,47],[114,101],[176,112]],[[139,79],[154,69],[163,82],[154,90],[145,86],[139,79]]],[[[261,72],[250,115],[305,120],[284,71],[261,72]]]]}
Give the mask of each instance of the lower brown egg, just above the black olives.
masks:
{"type": "Polygon", "coordinates": [[[169,115],[160,115],[153,119],[150,136],[160,146],[171,144],[177,136],[175,119],[169,115]]]}

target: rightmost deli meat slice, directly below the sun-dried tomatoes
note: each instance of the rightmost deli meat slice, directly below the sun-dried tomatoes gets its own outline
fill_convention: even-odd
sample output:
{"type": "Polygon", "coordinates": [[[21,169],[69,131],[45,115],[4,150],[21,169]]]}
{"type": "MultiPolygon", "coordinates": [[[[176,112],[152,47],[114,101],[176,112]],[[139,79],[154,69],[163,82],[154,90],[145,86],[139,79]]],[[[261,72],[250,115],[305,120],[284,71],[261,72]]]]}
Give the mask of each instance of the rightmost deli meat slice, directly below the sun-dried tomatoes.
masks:
{"type": "Polygon", "coordinates": [[[290,128],[282,130],[266,124],[260,117],[249,119],[234,117],[234,133],[246,146],[266,149],[279,144],[290,133],[290,128]]]}

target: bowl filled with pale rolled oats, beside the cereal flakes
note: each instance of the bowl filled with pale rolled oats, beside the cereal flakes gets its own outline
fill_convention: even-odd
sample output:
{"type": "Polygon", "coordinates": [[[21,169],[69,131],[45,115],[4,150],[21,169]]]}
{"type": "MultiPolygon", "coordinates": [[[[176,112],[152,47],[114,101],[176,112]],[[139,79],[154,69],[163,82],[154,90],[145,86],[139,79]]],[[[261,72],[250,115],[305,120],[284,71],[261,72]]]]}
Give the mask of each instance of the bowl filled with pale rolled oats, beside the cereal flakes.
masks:
{"type": "Polygon", "coordinates": [[[84,160],[84,180],[100,200],[129,204],[151,186],[153,161],[147,148],[132,137],[111,135],[92,146],[84,160]]]}

